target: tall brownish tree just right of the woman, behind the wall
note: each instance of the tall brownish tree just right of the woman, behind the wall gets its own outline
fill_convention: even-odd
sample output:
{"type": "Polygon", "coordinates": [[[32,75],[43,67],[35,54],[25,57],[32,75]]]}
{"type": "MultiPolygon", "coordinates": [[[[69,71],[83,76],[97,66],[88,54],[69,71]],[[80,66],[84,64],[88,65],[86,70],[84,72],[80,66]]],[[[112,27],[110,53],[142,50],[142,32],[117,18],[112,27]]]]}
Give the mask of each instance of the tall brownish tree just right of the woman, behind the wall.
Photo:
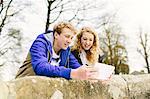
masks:
{"type": "Polygon", "coordinates": [[[125,47],[125,35],[121,34],[120,26],[114,21],[115,14],[103,16],[100,23],[100,49],[104,54],[104,63],[115,66],[115,74],[128,74],[127,50],[125,47]]]}

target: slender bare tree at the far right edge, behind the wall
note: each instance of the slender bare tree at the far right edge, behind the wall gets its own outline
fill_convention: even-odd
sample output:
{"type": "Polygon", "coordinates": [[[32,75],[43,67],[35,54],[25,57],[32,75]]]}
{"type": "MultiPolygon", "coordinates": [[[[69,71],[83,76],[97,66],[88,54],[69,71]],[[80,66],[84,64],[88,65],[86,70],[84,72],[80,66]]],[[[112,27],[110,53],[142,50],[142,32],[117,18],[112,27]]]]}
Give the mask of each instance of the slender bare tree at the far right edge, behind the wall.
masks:
{"type": "Polygon", "coordinates": [[[142,34],[143,34],[143,31],[142,31],[142,29],[140,29],[139,39],[140,39],[141,48],[138,48],[137,51],[144,58],[145,63],[146,63],[146,69],[147,69],[148,73],[150,73],[150,64],[149,64],[150,48],[148,45],[148,41],[149,41],[148,34],[145,33],[143,36],[142,36],[142,34]]]}

